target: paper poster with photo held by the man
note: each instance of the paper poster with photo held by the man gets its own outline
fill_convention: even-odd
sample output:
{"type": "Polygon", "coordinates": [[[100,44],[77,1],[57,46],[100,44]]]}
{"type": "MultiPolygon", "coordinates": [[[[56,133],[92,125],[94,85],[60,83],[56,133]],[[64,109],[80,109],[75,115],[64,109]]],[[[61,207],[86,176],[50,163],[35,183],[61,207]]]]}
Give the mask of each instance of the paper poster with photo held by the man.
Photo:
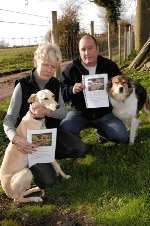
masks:
{"type": "Polygon", "coordinates": [[[83,91],[87,108],[108,107],[109,99],[106,91],[107,74],[82,75],[83,91]]]}

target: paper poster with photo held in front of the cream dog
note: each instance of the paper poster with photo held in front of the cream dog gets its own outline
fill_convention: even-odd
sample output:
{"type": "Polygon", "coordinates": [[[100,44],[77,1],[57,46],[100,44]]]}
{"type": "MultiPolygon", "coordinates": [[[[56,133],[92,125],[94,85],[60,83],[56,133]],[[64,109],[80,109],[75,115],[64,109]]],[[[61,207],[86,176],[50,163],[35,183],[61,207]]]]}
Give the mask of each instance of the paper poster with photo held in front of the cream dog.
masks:
{"type": "Polygon", "coordinates": [[[38,142],[37,151],[28,154],[29,167],[36,163],[49,163],[55,159],[57,129],[28,129],[27,141],[38,142]]]}

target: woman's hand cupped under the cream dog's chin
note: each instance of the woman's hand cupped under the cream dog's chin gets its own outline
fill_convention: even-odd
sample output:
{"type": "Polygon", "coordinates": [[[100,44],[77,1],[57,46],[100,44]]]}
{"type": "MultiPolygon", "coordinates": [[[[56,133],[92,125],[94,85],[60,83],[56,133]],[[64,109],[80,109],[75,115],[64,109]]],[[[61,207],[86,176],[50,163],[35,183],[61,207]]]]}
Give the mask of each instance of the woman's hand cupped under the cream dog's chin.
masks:
{"type": "Polygon", "coordinates": [[[44,106],[41,106],[39,103],[33,103],[30,105],[30,111],[32,113],[33,118],[44,118],[45,116],[48,116],[50,113],[50,110],[47,109],[44,106]]]}

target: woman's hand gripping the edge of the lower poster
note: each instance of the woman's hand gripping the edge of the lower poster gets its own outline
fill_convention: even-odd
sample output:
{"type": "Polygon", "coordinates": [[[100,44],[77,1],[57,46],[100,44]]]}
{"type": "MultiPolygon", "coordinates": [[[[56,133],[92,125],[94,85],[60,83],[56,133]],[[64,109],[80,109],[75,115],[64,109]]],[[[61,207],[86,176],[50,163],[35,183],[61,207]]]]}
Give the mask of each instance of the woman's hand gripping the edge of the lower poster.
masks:
{"type": "Polygon", "coordinates": [[[36,151],[36,148],[39,146],[39,143],[28,143],[24,138],[15,135],[12,143],[15,144],[17,146],[17,150],[24,153],[24,154],[28,154],[28,153],[32,153],[34,151],[36,151]]]}

